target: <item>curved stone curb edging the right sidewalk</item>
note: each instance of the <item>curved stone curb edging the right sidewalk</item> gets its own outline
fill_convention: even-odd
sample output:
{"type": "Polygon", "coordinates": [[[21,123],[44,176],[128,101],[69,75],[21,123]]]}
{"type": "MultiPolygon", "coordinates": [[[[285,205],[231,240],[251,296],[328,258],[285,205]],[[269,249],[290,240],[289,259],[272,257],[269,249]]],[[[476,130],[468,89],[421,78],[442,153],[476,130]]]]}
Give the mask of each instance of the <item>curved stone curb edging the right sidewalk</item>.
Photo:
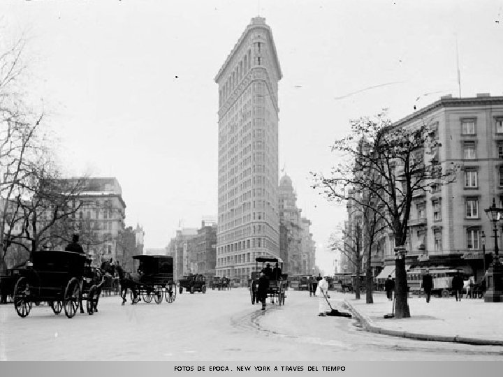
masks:
{"type": "Polygon", "coordinates": [[[423,341],[446,341],[450,343],[474,344],[478,346],[503,346],[503,341],[494,339],[460,337],[459,335],[452,337],[446,335],[432,335],[418,332],[384,329],[383,327],[374,325],[373,321],[370,318],[365,316],[365,314],[362,314],[359,311],[357,311],[354,308],[354,306],[351,305],[346,299],[344,299],[344,304],[346,304],[349,307],[349,309],[353,312],[356,318],[358,318],[358,322],[360,322],[362,327],[368,332],[375,332],[377,334],[389,335],[391,337],[402,337],[423,341]]]}

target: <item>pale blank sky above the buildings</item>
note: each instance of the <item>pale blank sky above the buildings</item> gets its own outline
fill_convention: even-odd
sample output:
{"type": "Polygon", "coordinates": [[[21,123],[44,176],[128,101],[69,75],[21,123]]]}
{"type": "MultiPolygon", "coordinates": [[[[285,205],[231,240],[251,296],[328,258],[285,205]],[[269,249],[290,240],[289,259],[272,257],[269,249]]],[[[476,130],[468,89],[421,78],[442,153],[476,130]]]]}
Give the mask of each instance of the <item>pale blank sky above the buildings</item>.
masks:
{"type": "Polygon", "coordinates": [[[337,163],[330,145],[351,119],[386,108],[398,120],[447,94],[503,96],[503,0],[3,0],[0,40],[27,37],[26,89],[66,174],[117,177],[126,226],[160,248],[180,225],[217,217],[214,77],[256,15],[283,73],[279,177],[291,177],[330,270],[344,206],[309,172],[337,163]]]}

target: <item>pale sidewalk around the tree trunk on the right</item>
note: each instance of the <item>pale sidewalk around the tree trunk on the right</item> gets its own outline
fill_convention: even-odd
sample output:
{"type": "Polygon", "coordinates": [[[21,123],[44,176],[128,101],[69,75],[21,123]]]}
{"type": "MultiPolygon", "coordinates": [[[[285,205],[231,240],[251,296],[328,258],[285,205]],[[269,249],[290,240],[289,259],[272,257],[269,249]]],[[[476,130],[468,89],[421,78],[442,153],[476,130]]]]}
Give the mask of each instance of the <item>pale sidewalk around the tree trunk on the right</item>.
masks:
{"type": "MultiPolygon", "coordinates": [[[[430,341],[486,344],[503,346],[503,302],[484,302],[483,299],[455,297],[409,297],[411,318],[385,319],[392,303],[385,295],[374,293],[374,304],[365,304],[365,293],[360,300],[354,294],[341,295],[343,302],[370,332],[430,341]]],[[[337,297],[339,298],[339,297],[337,297]]]]}

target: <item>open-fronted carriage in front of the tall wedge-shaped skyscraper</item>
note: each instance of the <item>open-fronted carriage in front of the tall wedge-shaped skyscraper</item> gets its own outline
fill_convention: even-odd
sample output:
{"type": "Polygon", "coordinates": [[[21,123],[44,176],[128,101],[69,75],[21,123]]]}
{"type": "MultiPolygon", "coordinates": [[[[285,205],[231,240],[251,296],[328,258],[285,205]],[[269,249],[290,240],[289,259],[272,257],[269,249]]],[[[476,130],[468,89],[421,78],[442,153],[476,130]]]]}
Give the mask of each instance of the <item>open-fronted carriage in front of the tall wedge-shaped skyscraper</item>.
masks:
{"type": "MultiPolygon", "coordinates": [[[[250,283],[250,297],[251,304],[258,303],[258,274],[264,269],[265,263],[278,263],[279,267],[283,269],[283,261],[279,258],[265,258],[258,257],[255,259],[255,270],[251,272],[251,283],[250,283]]],[[[269,278],[269,288],[267,291],[267,298],[270,298],[272,303],[277,302],[279,305],[284,305],[284,300],[286,298],[286,287],[288,286],[288,274],[270,274],[269,278]]]]}

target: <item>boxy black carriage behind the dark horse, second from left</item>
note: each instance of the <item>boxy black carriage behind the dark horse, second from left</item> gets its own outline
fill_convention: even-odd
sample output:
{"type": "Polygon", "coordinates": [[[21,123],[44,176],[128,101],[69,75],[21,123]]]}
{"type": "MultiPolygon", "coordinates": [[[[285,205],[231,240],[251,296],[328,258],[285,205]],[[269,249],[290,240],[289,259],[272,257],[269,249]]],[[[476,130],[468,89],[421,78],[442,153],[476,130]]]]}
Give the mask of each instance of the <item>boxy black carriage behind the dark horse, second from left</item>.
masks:
{"type": "Polygon", "coordinates": [[[136,269],[137,273],[131,274],[131,303],[136,304],[143,298],[147,304],[152,300],[161,304],[163,297],[170,304],[175,301],[173,257],[145,254],[133,256],[133,269],[136,269]]]}

